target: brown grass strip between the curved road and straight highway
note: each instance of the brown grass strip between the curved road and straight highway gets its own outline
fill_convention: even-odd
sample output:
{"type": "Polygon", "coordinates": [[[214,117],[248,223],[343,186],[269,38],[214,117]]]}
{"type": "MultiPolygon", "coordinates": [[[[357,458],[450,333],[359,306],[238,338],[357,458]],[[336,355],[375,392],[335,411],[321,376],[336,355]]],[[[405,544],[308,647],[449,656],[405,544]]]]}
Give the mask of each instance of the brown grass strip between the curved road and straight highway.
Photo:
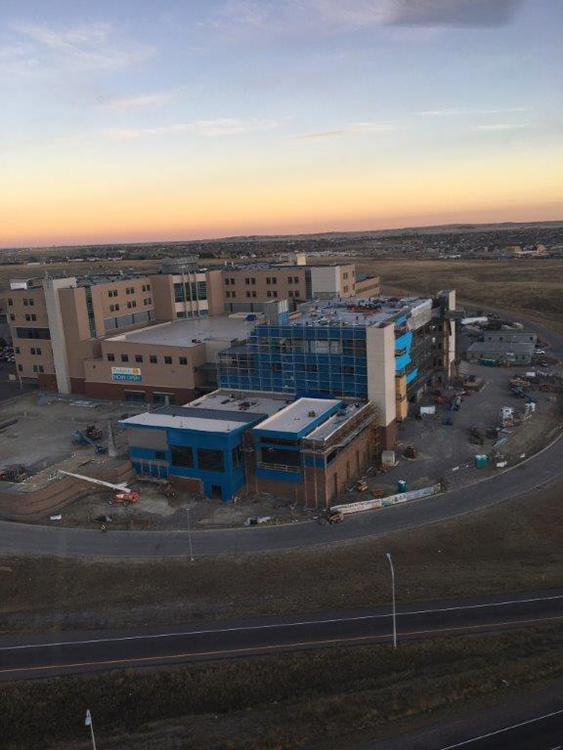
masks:
{"type": "Polygon", "coordinates": [[[560,482],[385,538],[194,562],[4,555],[0,629],[132,628],[353,610],[389,601],[386,551],[395,560],[401,602],[555,588],[563,570],[562,500],[560,482]]]}

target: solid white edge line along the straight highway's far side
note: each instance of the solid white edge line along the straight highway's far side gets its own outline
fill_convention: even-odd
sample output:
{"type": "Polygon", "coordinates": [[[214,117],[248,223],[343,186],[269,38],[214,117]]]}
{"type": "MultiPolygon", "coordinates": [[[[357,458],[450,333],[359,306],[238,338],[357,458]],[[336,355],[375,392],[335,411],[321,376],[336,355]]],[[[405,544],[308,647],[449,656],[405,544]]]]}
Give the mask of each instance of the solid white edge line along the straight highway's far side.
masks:
{"type": "MultiPolygon", "coordinates": [[[[442,607],[438,609],[418,609],[412,612],[397,612],[397,617],[411,617],[413,615],[429,615],[440,612],[456,612],[467,609],[486,609],[487,607],[507,607],[517,604],[533,604],[535,602],[547,602],[563,599],[563,594],[554,594],[553,596],[541,596],[532,599],[512,599],[502,602],[488,602],[484,604],[466,604],[455,607],[442,607]]],[[[266,623],[264,625],[249,625],[247,627],[237,626],[232,628],[215,628],[212,630],[186,630],[176,633],[148,633],[144,635],[124,635],[115,638],[89,638],[83,641],[54,641],[47,643],[24,643],[18,646],[0,646],[1,651],[24,651],[32,648],[48,648],[58,646],[87,646],[95,643],[120,643],[123,641],[143,641],[154,640],[155,638],[175,638],[188,635],[212,635],[216,633],[237,633],[251,630],[273,630],[275,628],[295,628],[303,625],[334,625],[344,622],[361,622],[365,620],[381,620],[392,617],[391,612],[377,615],[358,615],[355,617],[335,617],[328,620],[302,620],[297,622],[286,623],[266,623]]]]}

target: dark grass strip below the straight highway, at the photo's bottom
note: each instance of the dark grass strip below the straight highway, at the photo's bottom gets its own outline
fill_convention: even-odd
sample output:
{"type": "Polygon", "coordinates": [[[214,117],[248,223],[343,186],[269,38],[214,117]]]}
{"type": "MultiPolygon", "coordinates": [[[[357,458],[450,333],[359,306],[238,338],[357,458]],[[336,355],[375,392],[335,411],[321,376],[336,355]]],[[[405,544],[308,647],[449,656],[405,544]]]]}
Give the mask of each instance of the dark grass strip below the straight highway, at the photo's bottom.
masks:
{"type": "Polygon", "coordinates": [[[90,708],[108,750],[345,748],[562,676],[563,631],[549,626],[5,683],[1,746],[87,750],[90,708]]]}

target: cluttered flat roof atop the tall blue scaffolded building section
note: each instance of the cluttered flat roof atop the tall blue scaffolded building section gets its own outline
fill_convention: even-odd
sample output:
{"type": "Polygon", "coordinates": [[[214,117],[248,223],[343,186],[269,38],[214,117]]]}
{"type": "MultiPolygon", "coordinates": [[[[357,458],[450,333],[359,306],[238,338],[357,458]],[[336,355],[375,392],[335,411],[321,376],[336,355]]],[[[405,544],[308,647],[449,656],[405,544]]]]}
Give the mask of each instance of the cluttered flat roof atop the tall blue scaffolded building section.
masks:
{"type": "Polygon", "coordinates": [[[330,325],[331,322],[349,326],[372,326],[385,323],[401,315],[410,315],[417,308],[431,307],[430,297],[354,297],[346,300],[315,300],[301,305],[301,316],[296,325],[330,325]]]}

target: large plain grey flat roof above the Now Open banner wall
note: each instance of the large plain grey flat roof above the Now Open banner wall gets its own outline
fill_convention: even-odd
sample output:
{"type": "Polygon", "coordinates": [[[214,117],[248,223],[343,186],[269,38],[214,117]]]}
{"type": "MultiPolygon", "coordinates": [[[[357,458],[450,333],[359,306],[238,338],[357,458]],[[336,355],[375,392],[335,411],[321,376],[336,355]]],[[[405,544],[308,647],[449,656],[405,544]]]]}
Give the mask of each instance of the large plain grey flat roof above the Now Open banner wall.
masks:
{"type": "Polygon", "coordinates": [[[163,346],[190,347],[204,341],[234,341],[245,339],[259,320],[246,321],[240,318],[229,318],[228,315],[216,315],[190,320],[174,320],[171,323],[160,323],[147,326],[137,331],[121,333],[106,341],[130,341],[137,344],[161,344],[163,346]]]}

